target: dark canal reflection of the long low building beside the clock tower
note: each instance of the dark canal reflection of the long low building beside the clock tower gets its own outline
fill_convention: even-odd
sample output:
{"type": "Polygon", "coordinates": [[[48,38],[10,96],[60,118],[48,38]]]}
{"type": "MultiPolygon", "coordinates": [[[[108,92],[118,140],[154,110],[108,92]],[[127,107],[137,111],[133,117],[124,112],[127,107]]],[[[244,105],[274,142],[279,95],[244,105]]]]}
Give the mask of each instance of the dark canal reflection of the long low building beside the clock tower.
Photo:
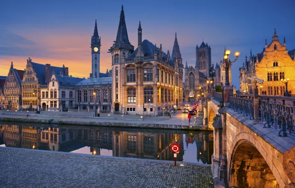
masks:
{"type": "Polygon", "coordinates": [[[78,129],[77,140],[81,145],[90,146],[90,152],[96,155],[100,155],[100,149],[112,150],[113,148],[112,131],[101,128],[78,129]]]}

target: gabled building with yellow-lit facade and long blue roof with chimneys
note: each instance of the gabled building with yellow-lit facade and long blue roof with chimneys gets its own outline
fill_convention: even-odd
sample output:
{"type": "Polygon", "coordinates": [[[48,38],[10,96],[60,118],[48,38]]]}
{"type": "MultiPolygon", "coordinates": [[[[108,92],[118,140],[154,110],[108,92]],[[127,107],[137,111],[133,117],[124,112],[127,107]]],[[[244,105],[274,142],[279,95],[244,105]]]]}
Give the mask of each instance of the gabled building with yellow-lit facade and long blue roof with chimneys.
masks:
{"type": "Polygon", "coordinates": [[[69,68],[55,67],[50,64],[39,64],[32,62],[29,57],[27,59],[27,65],[22,79],[22,107],[24,109],[37,109],[37,106],[41,107],[41,93],[40,89],[46,87],[49,83],[52,71],[56,74],[62,73],[64,76],[69,76],[69,68]]]}

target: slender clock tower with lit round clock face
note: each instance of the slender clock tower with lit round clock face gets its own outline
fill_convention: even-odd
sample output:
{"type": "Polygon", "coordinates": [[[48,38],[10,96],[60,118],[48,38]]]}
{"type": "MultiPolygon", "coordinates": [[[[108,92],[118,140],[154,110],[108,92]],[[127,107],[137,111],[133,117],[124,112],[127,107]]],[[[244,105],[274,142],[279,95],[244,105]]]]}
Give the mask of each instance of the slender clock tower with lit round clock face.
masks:
{"type": "Polygon", "coordinates": [[[100,37],[98,36],[98,25],[95,20],[94,33],[91,37],[91,54],[92,54],[92,73],[90,78],[99,78],[99,56],[100,56],[100,37]]]}

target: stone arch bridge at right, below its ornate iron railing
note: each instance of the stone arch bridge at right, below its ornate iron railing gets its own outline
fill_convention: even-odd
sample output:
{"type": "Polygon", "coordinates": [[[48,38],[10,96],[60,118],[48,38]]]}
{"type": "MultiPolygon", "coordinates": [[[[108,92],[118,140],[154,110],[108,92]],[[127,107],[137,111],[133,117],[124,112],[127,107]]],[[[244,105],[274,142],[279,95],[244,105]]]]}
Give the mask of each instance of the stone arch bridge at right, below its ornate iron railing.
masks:
{"type": "MultiPolygon", "coordinates": [[[[246,98],[246,101],[230,107],[220,107],[214,100],[206,103],[204,119],[208,117],[208,127],[212,126],[214,135],[211,167],[215,187],[295,188],[292,125],[287,137],[280,137],[281,124],[281,129],[266,126],[268,116],[261,116],[260,122],[255,123],[250,110],[253,106],[249,111],[239,108],[247,102],[251,104],[252,99],[246,98]]],[[[276,122],[279,121],[273,121],[276,122]]]]}

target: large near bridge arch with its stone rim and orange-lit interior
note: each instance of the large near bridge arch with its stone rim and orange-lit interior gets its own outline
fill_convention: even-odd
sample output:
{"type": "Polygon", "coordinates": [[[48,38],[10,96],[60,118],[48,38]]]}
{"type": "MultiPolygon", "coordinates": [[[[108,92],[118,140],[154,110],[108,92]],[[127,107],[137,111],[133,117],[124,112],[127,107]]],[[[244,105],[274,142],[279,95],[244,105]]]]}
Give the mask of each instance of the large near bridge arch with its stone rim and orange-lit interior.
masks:
{"type": "Polygon", "coordinates": [[[278,167],[263,146],[250,134],[240,133],[233,140],[228,163],[230,187],[279,188],[278,167]]]}

